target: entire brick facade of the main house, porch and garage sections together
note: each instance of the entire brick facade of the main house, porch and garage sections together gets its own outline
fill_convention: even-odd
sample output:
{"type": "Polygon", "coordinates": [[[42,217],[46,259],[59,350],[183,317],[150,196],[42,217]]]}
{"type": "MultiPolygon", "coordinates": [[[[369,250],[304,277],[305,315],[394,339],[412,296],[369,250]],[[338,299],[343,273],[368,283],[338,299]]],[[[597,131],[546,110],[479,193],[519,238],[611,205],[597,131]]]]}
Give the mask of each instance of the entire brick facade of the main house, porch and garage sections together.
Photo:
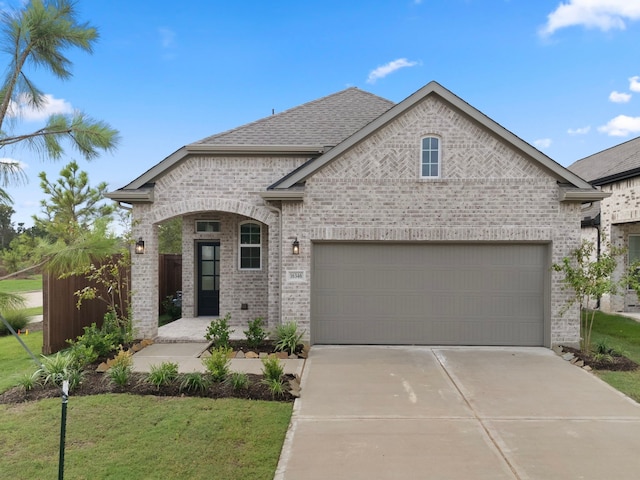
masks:
{"type": "MultiPolygon", "coordinates": [[[[150,204],[134,205],[134,237],[146,253],[133,258],[133,315],[142,336],[157,332],[157,225],[183,218],[183,315],[195,315],[195,242],[219,239],[220,308],[234,325],[256,316],[269,325],[296,321],[310,331],[313,243],[535,242],[550,245],[549,267],[580,241],[580,204],[559,201],[557,177],[459,110],[426,97],[324,166],[305,184],[302,201],[266,202],[259,192],[308,160],[291,157],[189,156],[155,182],[150,204]],[[420,142],[442,143],[439,179],[420,179],[420,142]],[[196,219],[221,232],[196,234],[196,219]],[[238,269],[238,225],[263,225],[263,268],[238,269]],[[291,255],[294,238],[300,255],[291,255]],[[303,272],[291,280],[291,272],[303,272]],[[249,310],[240,310],[248,303],[249,310]]],[[[577,309],[561,315],[567,294],[550,275],[548,344],[577,344],[577,309]]]]}

